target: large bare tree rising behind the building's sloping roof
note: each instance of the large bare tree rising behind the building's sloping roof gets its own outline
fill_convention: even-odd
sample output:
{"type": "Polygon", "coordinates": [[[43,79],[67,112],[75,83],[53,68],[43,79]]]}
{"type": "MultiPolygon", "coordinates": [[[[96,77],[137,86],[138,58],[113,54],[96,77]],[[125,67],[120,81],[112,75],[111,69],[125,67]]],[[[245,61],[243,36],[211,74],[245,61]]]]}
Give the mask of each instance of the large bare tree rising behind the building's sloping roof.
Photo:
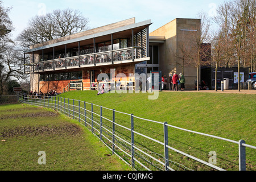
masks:
{"type": "Polygon", "coordinates": [[[54,10],[45,16],[32,18],[17,40],[22,47],[28,48],[32,44],[85,31],[89,28],[88,22],[79,10],[54,10]]]}

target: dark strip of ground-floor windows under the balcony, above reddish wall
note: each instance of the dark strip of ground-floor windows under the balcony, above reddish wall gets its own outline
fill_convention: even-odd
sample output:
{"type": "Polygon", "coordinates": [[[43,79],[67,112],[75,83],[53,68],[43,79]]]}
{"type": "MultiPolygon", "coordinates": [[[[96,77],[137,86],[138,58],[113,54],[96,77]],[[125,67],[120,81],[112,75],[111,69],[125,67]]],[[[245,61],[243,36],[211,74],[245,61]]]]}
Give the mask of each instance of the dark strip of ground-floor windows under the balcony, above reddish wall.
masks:
{"type": "Polygon", "coordinates": [[[40,75],[40,81],[58,81],[58,80],[81,80],[82,72],[56,73],[40,75]]]}

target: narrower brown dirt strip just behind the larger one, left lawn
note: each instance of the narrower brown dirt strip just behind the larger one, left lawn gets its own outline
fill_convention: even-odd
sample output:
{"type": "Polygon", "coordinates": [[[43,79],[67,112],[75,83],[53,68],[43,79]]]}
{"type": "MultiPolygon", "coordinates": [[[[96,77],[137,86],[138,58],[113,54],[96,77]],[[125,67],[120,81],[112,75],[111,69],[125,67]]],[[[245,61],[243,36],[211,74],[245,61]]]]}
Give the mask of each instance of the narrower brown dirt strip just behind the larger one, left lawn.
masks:
{"type": "Polygon", "coordinates": [[[1,119],[16,119],[16,118],[35,118],[35,117],[57,117],[59,114],[58,113],[53,113],[51,111],[42,111],[38,113],[23,113],[23,114],[5,114],[5,115],[0,115],[0,120],[1,119]]]}

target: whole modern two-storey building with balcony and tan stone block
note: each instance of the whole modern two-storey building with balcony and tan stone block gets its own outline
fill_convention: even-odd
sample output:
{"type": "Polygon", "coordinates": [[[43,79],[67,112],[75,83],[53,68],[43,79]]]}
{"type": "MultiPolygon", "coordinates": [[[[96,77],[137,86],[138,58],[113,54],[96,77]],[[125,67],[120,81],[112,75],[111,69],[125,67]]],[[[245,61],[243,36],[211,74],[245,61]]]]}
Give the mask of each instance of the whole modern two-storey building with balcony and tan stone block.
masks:
{"type": "Polygon", "coordinates": [[[32,45],[24,52],[30,54],[30,64],[25,65],[30,90],[89,90],[99,74],[110,78],[113,70],[114,80],[109,81],[119,81],[119,73],[126,76],[120,81],[135,81],[135,73],[162,71],[168,77],[184,71],[186,88],[194,89],[197,69],[184,64],[180,48],[191,47],[188,39],[200,28],[200,19],[175,19],[150,33],[151,24],[131,18],[32,45]]]}

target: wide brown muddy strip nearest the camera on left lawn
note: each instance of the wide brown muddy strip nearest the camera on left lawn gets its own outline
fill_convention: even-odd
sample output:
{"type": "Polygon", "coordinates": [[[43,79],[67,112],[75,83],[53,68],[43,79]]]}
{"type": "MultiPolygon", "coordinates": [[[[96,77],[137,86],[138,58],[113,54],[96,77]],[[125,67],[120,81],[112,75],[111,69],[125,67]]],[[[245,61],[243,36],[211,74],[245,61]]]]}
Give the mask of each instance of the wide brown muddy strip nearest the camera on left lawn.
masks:
{"type": "Polygon", "coordinates": [[[82,134],[82,129],[72,123],[64,123],[62,125],[56,126],[27,126],[27,127],[14,127],[12,129],[3,129],[0,133],[0,137],[7,139],[10,137],[19,136],[37,136],[37,135],[61,135],[61,136],[75,136],[79,137],[82,134]]]}

